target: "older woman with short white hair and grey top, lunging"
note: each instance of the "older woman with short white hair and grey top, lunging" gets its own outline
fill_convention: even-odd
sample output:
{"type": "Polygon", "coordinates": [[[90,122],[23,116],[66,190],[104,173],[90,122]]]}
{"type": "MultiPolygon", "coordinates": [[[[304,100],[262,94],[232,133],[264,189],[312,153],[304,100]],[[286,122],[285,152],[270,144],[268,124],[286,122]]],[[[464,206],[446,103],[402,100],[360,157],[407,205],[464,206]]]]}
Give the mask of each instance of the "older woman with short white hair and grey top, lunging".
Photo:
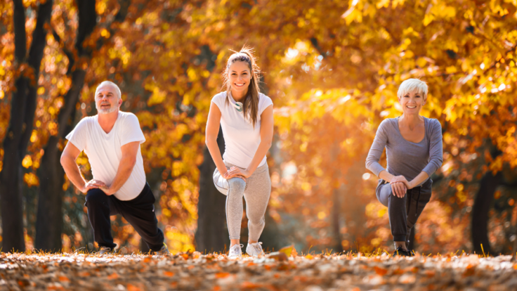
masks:
{"type": "Polygon", "coordinates": [[[388,207],[395,254],[411,256],[407,250],[410,231],[431,199],[431,174],[443,162],[442,127],[437,119],[419,115],[426,104],[428,87],[419,79],[407,79],[398,89],[403,115],[381,122],[366,167],[381,178],[377,199],[388,207]],[[386,148],[386,169],[379,158],[386,148]]]}

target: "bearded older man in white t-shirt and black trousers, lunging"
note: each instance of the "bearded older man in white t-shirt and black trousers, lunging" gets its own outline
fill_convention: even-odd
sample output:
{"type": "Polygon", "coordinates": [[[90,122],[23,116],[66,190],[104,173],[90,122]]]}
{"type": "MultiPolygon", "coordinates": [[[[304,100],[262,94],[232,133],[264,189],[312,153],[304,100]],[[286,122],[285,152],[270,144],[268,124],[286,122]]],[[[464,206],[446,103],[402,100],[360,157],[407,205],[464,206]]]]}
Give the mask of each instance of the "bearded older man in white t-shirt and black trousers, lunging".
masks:
{"type": "Polygon", "coordinates": [[[140,143],[145,141],[138,118],[119,110],[122,98],[113,82],[100,83],[95,102],[98,115],[84,117],[67,136],[61,164],[68,179],[86,194],[88,218],[100,254],[113,252],[110,216],[121,214],[152,252],[169,253],[158,228],[155,196],[145,181],[140,143]],[[88,155],[93,180],[86,181],[77,157],[88,155]]]}

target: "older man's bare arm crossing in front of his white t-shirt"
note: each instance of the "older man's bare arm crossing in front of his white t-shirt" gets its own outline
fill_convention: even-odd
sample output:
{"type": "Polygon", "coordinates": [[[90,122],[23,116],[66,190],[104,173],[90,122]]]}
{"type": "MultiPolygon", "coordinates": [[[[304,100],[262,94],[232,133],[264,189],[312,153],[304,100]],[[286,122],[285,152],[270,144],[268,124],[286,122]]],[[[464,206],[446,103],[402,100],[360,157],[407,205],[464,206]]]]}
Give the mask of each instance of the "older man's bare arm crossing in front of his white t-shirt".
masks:
{"type": "Polygon", "coordinates": [[[103,185],[99,187],[100,190],[103,190],[103,192],[106,193],[106,195],[113,195],[114,193],[117,193],[117,191],[122,188],[122,186],[124,186],[124,183],[126,183],[127,179],[129,179],[131,172],[133,172],[133,167],[135,167],[136,164],[138,148],[140,148],[140,141],[126,143],[120,147],[122,150],[122,158],[120,159],[117,174],[115,175],[110,186],[103,185]]]}

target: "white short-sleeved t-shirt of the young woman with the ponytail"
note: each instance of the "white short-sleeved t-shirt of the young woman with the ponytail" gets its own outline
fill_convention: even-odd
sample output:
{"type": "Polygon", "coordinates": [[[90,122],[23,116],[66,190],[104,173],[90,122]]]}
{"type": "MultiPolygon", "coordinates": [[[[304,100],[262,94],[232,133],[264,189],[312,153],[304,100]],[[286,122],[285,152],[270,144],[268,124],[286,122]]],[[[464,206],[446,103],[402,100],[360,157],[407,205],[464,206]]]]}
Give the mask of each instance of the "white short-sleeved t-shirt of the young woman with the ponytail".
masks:
{"type": "MultiPolygon", "coordinates": [[[[258,93],[258,116],[255,128],[251,124],[251,118],[244,119],[244,112],[238,112],[232,105],[235,100],[232,94],[228,94],[226,104],[226,91],[218,93],[211,102],[214,102],[221,110],[221,128],[223,129],[225,150],[223,160],[235,166],[246,169],[261,143],[261,115],[268,106],[273,105],[271,98],[258,93]]],[[[264,155],[258,167],[266,164],[264,155]]]]}

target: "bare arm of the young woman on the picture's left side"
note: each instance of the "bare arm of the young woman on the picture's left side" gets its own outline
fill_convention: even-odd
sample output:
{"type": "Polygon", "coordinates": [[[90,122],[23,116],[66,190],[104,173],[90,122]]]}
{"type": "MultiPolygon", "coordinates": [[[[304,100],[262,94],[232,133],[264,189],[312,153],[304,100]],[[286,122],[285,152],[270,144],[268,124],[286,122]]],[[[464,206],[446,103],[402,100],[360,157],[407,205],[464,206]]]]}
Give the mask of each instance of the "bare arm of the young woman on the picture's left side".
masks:
{"type": "Polygon", "coordinates": [[[226,179],[226,174],[228,169],[223,162],[223,157],[221,157],[221,152],[219,151],[219,146],[217,145],[217,135],[219,134],[219,127],[221,126],[221,110],[219,110],[216,103],[210,103],[210,111],[208,112],[208,120],[207,120],[207,129],[205,130],[205,138],[204,143],[207,144],[207,148],[210,152],[212,160],[216,164],[216,167],[226,179]]]}

